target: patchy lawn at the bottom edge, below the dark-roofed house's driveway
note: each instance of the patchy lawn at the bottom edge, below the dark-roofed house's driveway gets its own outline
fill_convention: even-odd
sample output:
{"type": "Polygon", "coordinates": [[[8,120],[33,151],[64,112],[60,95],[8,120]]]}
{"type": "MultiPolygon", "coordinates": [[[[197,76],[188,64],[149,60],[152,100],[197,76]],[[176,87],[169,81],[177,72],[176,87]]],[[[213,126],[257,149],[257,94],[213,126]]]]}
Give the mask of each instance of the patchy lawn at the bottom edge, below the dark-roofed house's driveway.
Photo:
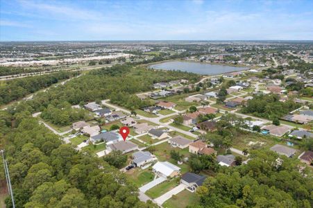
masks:
{"type": "Polygon", "coordinates": [[[198,196],[196,193],[192,193],[190,191],[184,190],[180,193],[178,193],[176,196],[173,196],[164,204],[162,207],[164,208],[185,208],[187,205],[196,205],[196,203],[199,201],[198,196]]]}

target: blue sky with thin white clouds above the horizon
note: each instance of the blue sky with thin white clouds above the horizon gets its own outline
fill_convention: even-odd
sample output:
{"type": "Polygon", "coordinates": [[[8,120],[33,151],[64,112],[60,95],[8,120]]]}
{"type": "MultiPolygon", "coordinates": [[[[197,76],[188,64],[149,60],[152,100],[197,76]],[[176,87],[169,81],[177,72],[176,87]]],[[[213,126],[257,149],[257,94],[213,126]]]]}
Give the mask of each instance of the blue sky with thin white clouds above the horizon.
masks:
{"type": "Polygon", "coordinates": [[[313,40],[312,0],[0,2],[0,41],[313,40]]]}

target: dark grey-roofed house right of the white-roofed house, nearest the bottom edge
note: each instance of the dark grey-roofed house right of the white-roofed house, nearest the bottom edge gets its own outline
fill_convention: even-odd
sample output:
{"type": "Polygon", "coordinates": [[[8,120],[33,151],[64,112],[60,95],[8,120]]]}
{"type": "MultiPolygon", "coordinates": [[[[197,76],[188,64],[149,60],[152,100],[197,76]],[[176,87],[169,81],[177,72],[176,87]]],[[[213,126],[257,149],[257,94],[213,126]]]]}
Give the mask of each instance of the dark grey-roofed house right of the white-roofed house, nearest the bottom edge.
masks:
{"type": "Polygon", "coordinates": [[[198,187],[202,186],[205,178],[204,175],[187,172],[180,177],[180,182],[187,186],[188,191],[194,192],[198,187]]]}

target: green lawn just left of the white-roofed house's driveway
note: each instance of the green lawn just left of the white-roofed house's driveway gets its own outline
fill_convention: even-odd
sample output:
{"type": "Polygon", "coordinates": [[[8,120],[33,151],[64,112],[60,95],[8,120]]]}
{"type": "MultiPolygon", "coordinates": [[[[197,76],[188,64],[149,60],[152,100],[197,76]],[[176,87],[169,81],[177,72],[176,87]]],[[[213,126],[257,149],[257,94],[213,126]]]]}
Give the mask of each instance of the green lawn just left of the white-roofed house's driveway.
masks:
{"type": "Polygon", "coordinates": [[[140,168],[133,168],[130,171],[126,171],[126,175],[136,184],[138,188],[148,182],[151,182],[154,178],[154,174],[151,171],[147,169],[142,171],[140,168]]]}

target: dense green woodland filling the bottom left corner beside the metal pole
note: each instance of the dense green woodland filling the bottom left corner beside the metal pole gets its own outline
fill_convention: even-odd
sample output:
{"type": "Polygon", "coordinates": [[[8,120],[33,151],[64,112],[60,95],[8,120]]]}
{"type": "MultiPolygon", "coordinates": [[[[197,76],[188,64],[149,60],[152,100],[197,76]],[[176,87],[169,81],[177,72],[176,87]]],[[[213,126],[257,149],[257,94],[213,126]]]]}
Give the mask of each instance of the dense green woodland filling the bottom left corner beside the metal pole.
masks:
{"type": "MultiPolygon", "coordinates": [[[[117,168],[62,144],[29,112],[0,117],[16,207],[155,207],[139,202],[137,188],[117,168]]],[[[12,207],[9,197],[6,206],[12,207]]]]}

